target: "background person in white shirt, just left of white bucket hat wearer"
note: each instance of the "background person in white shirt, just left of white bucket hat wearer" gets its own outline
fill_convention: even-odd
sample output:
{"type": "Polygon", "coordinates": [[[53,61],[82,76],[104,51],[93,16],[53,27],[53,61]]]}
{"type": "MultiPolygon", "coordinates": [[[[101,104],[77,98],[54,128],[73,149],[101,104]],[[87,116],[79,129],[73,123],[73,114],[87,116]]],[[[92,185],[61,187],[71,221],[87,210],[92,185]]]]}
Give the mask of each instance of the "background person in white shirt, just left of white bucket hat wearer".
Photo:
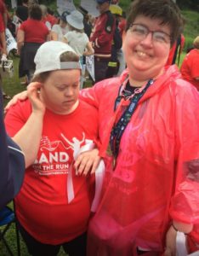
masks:
{"type": "Polygon", "coordinates": [[[62,42],[64,40],[64,35],[69,32],[69,27],[67,26],[66,16],[70,15],[70,12],[65,11],[60,16],[59,24],[54,24],[50,32],[50,39],[54,41],[62,42]]]}

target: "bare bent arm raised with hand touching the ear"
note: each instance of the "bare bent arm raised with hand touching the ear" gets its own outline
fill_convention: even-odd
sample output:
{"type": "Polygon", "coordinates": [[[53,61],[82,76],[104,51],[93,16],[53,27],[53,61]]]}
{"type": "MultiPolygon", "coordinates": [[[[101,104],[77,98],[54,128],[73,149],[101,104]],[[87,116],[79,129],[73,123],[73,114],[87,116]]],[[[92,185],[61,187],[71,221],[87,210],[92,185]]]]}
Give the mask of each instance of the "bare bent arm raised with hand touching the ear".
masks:
{"type": "MultiPolygon", "coordinates": [[[[23,125],[20,131],[13,137],[14,142],[18,143],[25,153],[26,167],[30,166],[37,157],[43,130],[43,115],[45,113],[45,106],[37,92],[41,84],[35,82],[30,85],[27,90],[27,95],[31,101],[32,112],[26,124],[23,125]]],[[[12,115],[12,112],[7,114],[12,115]]]]}

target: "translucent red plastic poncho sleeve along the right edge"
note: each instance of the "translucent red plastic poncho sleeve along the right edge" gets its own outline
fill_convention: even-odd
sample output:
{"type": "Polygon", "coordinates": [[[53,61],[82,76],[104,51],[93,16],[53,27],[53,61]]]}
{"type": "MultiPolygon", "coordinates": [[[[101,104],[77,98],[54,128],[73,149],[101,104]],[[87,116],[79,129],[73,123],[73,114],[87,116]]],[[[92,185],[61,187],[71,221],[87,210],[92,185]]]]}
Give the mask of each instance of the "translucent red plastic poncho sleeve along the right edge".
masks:
{"type": "Polygon", "coordinates": [[[199,94],[194,86],[176,90],[176,184],[170,207],[173,219],[199,223],[199,94]]]}

